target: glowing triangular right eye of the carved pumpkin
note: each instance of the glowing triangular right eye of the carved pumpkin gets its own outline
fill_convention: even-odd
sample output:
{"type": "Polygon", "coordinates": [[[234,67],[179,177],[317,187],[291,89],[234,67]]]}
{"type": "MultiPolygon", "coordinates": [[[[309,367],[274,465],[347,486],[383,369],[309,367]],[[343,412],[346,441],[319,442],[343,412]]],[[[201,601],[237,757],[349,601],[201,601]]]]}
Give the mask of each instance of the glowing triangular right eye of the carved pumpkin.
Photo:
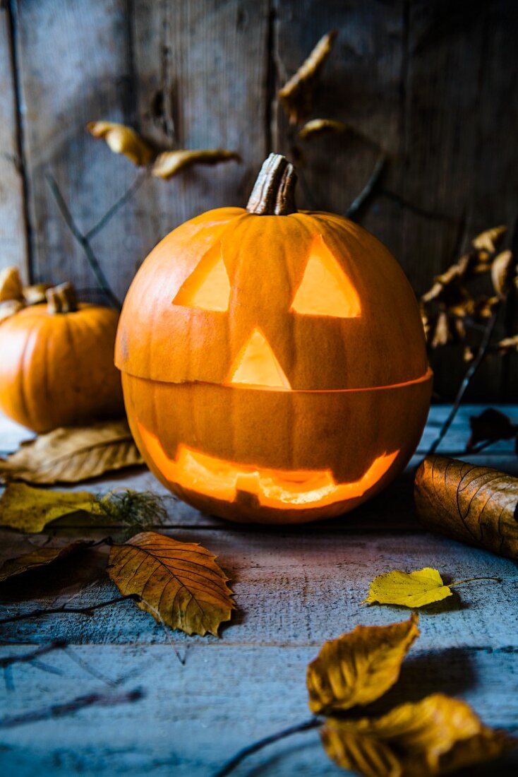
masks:
{"type": "Polygon", "coordinates": [[[322,237],[315,239],[311,246],[290,311],[302,315],[332,315],[340,319],[360,315],[358,294],[322,237]]]}

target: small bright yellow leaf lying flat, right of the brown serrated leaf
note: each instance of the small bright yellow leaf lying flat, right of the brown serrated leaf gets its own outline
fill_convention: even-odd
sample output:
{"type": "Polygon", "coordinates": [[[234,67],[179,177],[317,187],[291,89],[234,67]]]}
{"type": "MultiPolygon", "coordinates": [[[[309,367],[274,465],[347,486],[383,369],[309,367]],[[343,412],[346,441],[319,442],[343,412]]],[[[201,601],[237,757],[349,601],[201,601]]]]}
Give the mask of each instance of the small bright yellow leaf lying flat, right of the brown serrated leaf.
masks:
{"type": "Polygon", "coordinates": [[[444,585],[439,572],[426,566],[415,572],[394,570],[374,577],[369,595],[363,599],[362,604],[375,602],[379,605],[424,607],[451,595],[450,588],[444,585]]]}

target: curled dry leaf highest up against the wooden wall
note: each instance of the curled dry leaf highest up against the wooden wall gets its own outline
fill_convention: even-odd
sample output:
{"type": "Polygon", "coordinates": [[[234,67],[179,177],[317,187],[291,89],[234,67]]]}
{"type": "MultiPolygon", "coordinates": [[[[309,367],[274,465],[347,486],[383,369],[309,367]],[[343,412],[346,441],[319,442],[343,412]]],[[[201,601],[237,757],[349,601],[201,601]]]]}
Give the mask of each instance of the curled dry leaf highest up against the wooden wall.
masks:
{"type": "Polygon", "coordinates": [[[331,53],[336,35],[336,30],[324,35],[295,75],[280,89],[280,103],[290,119],[290,124],[304,120],[313,110],[318,78],[331,53]]]}

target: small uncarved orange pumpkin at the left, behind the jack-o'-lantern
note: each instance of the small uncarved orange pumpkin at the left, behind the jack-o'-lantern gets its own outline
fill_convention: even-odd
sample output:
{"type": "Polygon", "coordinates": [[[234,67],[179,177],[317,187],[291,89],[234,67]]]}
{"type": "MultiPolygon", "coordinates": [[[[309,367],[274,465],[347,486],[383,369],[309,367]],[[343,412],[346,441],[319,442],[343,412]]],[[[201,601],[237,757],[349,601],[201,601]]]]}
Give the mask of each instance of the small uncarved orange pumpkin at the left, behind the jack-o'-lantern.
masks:
{"type": "Polygon", "coordinates": [[[118,313],[77,304],[70,284],[47,300],[0,323],[0,409],[37,432],[122,415],[118,313]]]}

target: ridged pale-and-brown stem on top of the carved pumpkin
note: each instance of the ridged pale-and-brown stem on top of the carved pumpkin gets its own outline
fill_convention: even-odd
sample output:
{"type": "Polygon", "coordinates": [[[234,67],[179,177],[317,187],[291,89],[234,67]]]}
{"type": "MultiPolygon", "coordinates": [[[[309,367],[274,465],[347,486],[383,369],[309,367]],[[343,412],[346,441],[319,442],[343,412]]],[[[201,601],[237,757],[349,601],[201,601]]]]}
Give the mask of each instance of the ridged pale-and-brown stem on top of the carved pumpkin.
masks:
{"type": "Polygon", "coordinates": [[[287,216],[297,213],[297,173],[281,154],[270,154],[257,176],[246,210],[259,216],[287,216]]]}

